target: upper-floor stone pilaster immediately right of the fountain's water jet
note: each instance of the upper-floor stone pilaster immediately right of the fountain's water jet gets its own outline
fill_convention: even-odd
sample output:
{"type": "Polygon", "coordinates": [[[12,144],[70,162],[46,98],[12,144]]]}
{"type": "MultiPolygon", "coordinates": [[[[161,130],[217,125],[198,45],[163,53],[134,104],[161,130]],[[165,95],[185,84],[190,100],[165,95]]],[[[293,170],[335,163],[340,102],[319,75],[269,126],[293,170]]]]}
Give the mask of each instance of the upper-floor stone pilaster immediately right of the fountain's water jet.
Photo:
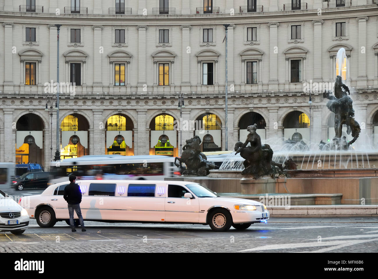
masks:
{"type": "MultiPolygon", "coordinates": [[[[361,4],[363,5],[363,4],[361,4]]],[[[365,0],[366,5],[366,0],[365,0]]],[[[357,76],[357,88],[367,87],[366,76],[366,22],[368,17],[357,17],[358,22],[358,76],[357,76]],[[362,48],[365,48],[362,53],[362,48]]]]}

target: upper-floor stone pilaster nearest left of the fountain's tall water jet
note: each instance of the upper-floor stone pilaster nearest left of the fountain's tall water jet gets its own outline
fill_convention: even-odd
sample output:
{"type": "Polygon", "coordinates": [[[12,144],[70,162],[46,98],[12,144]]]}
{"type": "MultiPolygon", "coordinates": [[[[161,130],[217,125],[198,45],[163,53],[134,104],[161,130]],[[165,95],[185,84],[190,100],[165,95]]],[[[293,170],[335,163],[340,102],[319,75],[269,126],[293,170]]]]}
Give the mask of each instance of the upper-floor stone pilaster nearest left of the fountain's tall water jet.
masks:
{"type": "MultiPolygon", "coordinates": [[[[315,0],[314,9],[322,8],[321,0],[315,0]],[[319,5],[315,7],[315,5],[319,5]]],[[[313,81],[321,82],[322,81],[322,24],[323,20],[313,20],[312,24],[314,25],[314,62],[313,62],[313,81]]]]}

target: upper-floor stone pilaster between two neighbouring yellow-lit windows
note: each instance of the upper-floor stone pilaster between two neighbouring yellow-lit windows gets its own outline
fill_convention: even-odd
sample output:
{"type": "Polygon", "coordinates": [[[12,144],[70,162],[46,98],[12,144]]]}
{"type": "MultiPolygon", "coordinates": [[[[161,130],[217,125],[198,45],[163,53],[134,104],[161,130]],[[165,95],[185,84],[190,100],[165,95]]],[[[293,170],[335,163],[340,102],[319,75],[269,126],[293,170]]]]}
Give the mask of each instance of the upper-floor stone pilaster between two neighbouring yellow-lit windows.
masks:
{"type": "MultiPolygon", "coordinates": [[[[143,1],[140,1],[143,2],[143,1]]],[[[139,2],[139,4],[140,4],[139,2]]],[[[146,30],[147,26],[136,26],[138,29],[138,94],[143,94],[146,84],[146,30]]]]}

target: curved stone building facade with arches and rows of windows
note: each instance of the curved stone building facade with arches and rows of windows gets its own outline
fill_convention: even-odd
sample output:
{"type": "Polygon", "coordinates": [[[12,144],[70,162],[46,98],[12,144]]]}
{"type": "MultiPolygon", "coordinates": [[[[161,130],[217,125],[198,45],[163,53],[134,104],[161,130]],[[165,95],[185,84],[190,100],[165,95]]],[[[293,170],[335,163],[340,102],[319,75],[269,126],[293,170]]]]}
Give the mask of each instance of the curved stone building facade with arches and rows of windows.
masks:
{"type": "MultiPolygon", "coordinates": [[[[208,120],[202,128],[185,126],[183,142],[210,134],[209,150],[232,150],[243,140],[248,119],[260,121],[263,140],[291,137],[299,129],[305,140],[327,141],[332,115],[317,86],[335,81],[340,48],[346,54],[345,84],[363,126],[359,140],[373,145],[378,133],[376,0],[305,1],[0,0],[0,161],[23,161],[19,153],[26,151],[20,147],[32,136],[42,154],[38,161],[49,165],[57,128],[62,148],[77,135],[80,154],[113,154],[107,150],[118,131],[109,132],[112,115],[126,121],[118,134],[127,154],[159,154],[156,148],[166,135],[169,154],[178,156],[180,125],[165,129],[156,117],[166,115],[168,126],[172,119],[180,123],[181,94],[181,123],[208,120]],[[73,116],[66,128],[57,127],[54,109],[52,120],[45,110],[51,97],[48,108],[54,107],[55,24],[62,25],[59,81],[76,82],[74,92],[69,87],[60,92],[59,123],[73,116]],[[227,147],[223,24],[230,24],[227,147]]],[[[67,156],[74,156],[72,150],[67,156]]]]}

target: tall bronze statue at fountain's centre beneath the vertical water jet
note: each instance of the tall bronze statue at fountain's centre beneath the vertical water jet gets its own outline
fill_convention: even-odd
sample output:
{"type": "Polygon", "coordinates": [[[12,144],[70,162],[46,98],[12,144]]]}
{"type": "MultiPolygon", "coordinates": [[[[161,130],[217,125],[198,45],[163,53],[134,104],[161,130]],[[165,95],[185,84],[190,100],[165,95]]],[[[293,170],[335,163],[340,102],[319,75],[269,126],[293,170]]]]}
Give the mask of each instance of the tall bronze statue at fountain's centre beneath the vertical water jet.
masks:
{"type": "Polygon", "coordinates": [[[335,87],[333,89],[335,96],[330,95],[324,91],[323,97],[327,98],[327,108],[335,113],[335,137],[332,139],[331,149],[333,150],[347,150],[349,145],[356,141],[359,136],[361,128],[358,122],[354,119],[353,101],[348,96],[350,95],[349,88],[341,81],[341,76],[336,77],[335,87]],[[347,95],[348,92],[348,95],[347,95]],[[342,138],[342,125],[347,125],[347,134],[352,132],[353,139],[346,142],[346,137],[342,138]]]}

